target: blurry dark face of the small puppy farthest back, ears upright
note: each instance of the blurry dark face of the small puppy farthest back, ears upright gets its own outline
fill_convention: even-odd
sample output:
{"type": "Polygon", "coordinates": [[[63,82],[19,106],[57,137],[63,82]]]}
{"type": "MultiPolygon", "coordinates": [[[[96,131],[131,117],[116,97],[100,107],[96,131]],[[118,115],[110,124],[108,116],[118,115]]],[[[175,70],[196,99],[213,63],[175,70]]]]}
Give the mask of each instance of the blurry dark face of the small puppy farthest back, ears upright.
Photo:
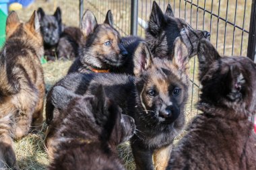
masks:
{"type": "Polygon", "coordinates": [[[38,8],[37,12],[44,44],[49,46],[56,45],[61,34],[61,9],[57,7],[53,15],[45,15],[42,8],[38,8]]]}

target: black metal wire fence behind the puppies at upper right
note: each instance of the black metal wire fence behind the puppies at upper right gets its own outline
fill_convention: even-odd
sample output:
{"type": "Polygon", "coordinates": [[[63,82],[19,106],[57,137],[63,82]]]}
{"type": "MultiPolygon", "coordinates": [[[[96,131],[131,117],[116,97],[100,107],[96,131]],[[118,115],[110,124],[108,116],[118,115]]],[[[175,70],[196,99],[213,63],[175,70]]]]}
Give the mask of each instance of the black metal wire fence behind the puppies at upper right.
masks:
{"type": "MultiPolygon", "coordinates": [[[[104,22],[106,11],[111,9],[115,28],[122,36],[137,34],[143,37],[145,30],[142,26],[149,19],[152,2],[152,0],[84,0],[84,9],[94,11],[98,22],[104,22]]],[[[185,19],[195,29],[209,31],[210,40],[220,54],[249,56],[254,60],[255,0],[156,0],[156,2],[162,11],[165,11],[170,3],[175,17],[185,19]]],[[[187,112],[193,116],[198,112],[194,105],[199,96],[196,57],[191,60],[191,83],[187,112]]]]}

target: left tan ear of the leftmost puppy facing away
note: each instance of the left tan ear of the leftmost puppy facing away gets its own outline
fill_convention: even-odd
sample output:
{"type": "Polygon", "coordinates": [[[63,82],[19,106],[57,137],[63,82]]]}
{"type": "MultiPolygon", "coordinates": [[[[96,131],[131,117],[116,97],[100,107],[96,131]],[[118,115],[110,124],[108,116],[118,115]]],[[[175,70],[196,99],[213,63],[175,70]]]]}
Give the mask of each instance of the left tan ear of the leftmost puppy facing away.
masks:
{"type": "Polygon", "coordinates": [[[20,24],[20,19],[15,11],[11,11],[6,19],[6,36],[8,37],[12,30],[20,24]]]}

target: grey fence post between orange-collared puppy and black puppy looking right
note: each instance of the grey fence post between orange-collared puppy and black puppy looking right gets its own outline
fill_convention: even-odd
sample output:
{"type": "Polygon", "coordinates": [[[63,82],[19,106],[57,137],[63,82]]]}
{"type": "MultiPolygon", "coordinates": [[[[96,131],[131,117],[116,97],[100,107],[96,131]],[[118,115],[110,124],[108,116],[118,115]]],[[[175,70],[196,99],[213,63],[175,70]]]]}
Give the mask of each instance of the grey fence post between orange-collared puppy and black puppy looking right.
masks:
{"type": "Polygon", "coordinates": [[[131,0],[131,35],[137,36],[138,0],[131,0]]]}

